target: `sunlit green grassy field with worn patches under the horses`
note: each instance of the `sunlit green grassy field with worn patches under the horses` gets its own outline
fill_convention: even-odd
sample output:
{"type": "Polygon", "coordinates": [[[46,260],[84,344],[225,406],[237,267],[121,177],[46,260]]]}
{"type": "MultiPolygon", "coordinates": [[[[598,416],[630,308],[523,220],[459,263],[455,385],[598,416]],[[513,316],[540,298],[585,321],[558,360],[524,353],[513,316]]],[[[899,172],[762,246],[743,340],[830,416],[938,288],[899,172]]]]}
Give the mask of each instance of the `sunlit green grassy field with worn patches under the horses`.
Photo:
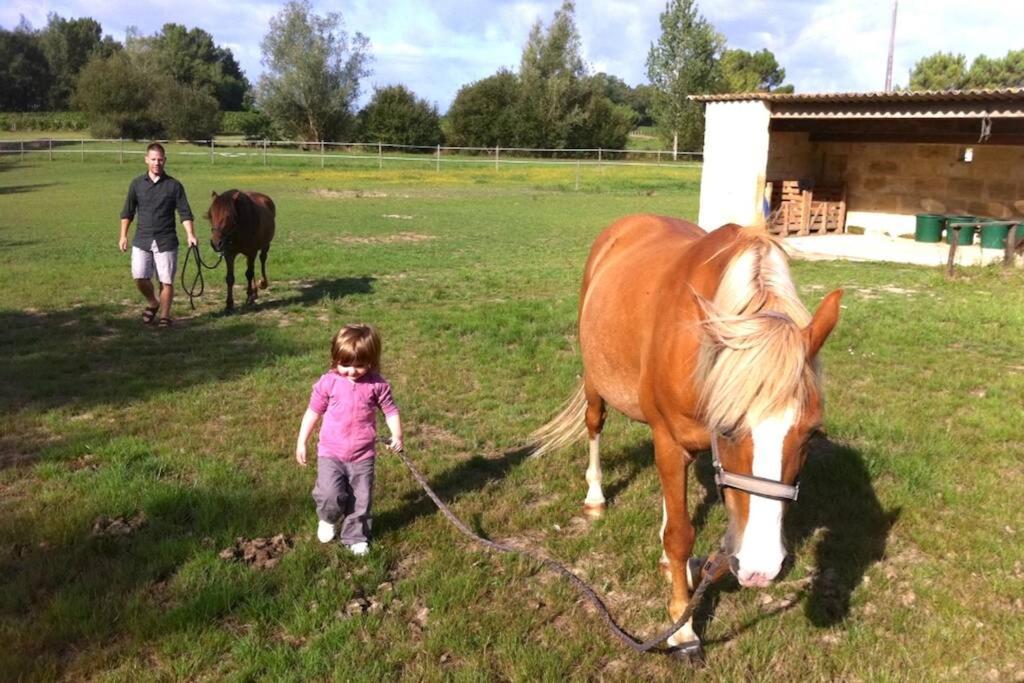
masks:
{"type": "MultiPolygon", "coordinates": [[[[0,160],[0,680],[678,680],[563,580],[494,556],[382,456],[375,544],[321,546],[295,434],[331,335],[377,325],[411,456],[484,535],[540,548],[647,636],[668,625],[648,433],[612,416],[609,511],[581,515],[586,459],[520,446],[573,388],[579,278],[597,232],[696,215],[698,169],[496,173],[172,148],[211,190],[279,206],[270,289],[224,316],[221,273],[170,331],[138,323],[117,251],[137,160],[0,160]],[[254,568],[220,554],[284,535],[254,568]]],[[[209,228],[198,222],[201,242],[209,228]]],[[[209,249],[205,250],[209,255],[209,249]]],[[[1024,276],[794,264],[809,304],[846,289],[823,351],[828,439],[787,517],[792,570],[700,610],[700,677],[1024,680],[1024,276]]],[[[237,291],[238,295],[238,291],[237,291]]],[[[703,459],[698,547],[725,527],[703,459]]]]}

